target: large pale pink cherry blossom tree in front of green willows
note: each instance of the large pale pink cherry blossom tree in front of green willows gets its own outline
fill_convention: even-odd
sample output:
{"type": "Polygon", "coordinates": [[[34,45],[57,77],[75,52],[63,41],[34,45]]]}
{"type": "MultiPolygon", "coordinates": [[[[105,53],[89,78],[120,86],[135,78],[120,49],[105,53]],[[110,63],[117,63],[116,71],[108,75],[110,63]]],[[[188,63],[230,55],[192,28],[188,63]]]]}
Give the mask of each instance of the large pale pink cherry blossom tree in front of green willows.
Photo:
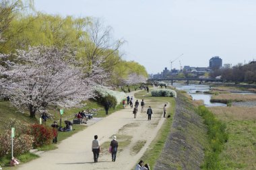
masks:
{"type": "Polygon", "coordinates": [[[16,59],[6,63],[8,69],[0,73],[5,93],[16,107],[28,108],[32,118],[49,105],[79,105],[94,96],[93,86],[104,78],[101,67],[84,72],[68,48],[30,47],[18,50],[16,59]]]}

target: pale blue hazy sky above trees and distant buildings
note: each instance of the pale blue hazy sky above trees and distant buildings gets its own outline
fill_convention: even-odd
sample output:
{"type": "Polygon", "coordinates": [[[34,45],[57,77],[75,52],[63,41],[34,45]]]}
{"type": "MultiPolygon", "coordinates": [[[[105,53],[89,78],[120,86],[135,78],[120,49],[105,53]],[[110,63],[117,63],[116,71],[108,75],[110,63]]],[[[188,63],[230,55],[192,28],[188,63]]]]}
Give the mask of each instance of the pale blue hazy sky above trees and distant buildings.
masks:
{"type": "Polygon", "coordinates": [[[125,60],[148,73],[208,67],[212,56],[236,65],[256,59],[255,0],[34,0],[45,13],[100,17],[124,38],[125,60]]]}

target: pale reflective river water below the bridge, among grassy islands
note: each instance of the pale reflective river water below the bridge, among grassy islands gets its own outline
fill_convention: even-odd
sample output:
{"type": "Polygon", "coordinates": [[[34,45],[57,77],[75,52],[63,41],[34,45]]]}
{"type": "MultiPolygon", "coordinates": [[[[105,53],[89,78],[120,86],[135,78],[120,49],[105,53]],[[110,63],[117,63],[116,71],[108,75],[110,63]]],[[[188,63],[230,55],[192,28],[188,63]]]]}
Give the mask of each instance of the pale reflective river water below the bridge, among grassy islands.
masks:
{"type": "Polygon", "coordinates": [[[189,95],[193,99],[201,99],[203,100],[203,103],[207,107],[213,107],[213,106],[226,106],[224,103],[211,103],[210,99],[212,95],[208,94],[203,94],[203,93],[196,93],[196,91],[210,91],[210,86],[209,85],[184,85],[184,84],[179,84],[179,83],[173,83],[174,87],[176,87],[179,90],[187,91],[189,95]]]}

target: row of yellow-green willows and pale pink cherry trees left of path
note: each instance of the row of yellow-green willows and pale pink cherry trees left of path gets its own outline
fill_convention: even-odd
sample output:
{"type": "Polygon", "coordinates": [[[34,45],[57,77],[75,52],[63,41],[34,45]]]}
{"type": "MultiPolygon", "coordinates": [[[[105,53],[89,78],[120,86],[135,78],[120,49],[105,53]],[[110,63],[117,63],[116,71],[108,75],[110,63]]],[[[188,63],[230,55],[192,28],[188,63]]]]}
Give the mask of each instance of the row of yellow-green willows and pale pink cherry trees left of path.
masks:
{"type": "Polygon", "coordinates": [[[26,11],[20,0],[0,3],[0,94],[31,117],[49,105],[79,105],[98,84],[146,81],[143,66],[122,59],[125,41],[99,19],[38,13],[32,1],[26,11]]]}

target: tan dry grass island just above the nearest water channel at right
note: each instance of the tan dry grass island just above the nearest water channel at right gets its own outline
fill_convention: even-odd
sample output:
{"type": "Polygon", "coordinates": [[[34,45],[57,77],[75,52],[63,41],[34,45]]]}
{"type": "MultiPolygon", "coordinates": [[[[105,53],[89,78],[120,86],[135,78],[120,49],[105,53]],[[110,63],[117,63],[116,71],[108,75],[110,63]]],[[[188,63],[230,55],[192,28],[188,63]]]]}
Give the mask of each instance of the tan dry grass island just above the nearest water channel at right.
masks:
{"type": "Polygon", "coordinates": [[[211,102],[228,103],[228,101],[256,101],[256,95],[225,93],[220,95],[212,95],[211,98],[211,102]]]}

